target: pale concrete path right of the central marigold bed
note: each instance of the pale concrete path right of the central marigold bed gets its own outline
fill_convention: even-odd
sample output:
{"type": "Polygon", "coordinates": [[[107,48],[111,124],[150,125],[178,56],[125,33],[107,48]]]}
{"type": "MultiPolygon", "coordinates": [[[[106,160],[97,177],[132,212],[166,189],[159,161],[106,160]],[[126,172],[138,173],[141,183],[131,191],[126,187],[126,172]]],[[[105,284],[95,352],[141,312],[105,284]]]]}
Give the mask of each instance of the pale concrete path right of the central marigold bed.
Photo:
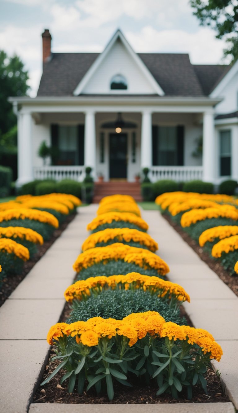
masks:
{"type": "Polygon", "coordinates": [[[193,325],[209,331],[221,345],[224,355],[212,363],[238,409],[238,297],[159,212],[143,211],[143,219],[159,243],[159,256],[169,265],[169,280],[190,294],[191,302],[183,305],[193,325]]]}

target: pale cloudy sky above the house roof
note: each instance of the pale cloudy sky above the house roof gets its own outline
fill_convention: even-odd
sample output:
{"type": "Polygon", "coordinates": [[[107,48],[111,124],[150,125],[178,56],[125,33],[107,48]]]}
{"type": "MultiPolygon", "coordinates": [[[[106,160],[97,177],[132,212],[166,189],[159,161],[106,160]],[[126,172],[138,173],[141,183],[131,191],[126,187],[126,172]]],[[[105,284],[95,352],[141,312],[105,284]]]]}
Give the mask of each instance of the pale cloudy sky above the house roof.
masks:
{"type": "Polygon", "coordinates": [[[32,97],[45,28],[53,52],[101,52],[121,28],[136,52],[188,52],[193,64],[224,63],[224,41],[199,26],[188,0],[0,0],[0,49],[21,57],[32,97]]]}

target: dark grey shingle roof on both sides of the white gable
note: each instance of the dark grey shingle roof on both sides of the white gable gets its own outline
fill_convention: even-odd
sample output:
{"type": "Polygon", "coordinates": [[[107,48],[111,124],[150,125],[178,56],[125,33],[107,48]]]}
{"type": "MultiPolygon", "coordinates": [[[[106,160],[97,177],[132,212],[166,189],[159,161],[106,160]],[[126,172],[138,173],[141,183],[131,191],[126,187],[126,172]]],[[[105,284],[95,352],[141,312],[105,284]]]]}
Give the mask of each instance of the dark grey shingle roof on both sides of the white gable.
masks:
{"type": "MultiPolygon", "coordinates": [[[[229,66],[192,65],[188,54],[139,53],[167,96],[208,95],[229,66]]],[[[72,96],[98,53],[52,53],[44,63],[37,96],[72,96]]]]}

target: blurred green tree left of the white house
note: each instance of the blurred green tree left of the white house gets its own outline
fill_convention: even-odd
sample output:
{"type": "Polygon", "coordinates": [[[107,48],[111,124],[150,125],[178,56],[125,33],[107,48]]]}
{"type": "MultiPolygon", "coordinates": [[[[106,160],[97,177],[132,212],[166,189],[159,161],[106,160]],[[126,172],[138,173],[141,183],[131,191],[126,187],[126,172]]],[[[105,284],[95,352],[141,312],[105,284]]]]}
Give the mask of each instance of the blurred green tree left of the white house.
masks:
{"type": "Polygon", "coordinates": [[[28,72],[24,70],[21,59],[13,57],[0,50],[0,135],[9,132],[17,123],[16,116],[12,110],[12,104],[8,102],[9,96],[25,96],[29,86],[28,72]]]}

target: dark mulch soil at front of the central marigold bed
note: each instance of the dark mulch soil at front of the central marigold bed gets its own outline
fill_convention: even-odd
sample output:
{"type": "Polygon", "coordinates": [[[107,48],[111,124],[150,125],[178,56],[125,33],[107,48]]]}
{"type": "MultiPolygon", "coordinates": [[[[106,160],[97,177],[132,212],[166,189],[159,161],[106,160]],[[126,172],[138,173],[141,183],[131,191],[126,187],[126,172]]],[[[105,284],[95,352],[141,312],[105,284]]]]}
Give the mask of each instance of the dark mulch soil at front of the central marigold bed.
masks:
{"type": "MultiPolygon", "coordinates": [[[[50,358],[55,356],[52,351],[50,358]]],[[[49,358],[49,362],[50,362],[49,358]]],[[[41,381],[45,380],[50,373],[54,371],[59,361],[47,364],[45,367],[45,372],[41,381]]],[[[114,400],[109,401],[107,397],[106,387],[102,390],[101,394],[97,395],[95,390],[92,388],[86,392],[86,387],[83,394],[78,394],[76,390],[73,393],[67,392],[67,382],[66,380],[62,386],[60,386],[60,380],[65,372],[59,371],[48,383],[43,387],[39,387],[36,394],[33,397],[33,403],[69,403],[69,404],[151,404],[151,403],[219,403],[228,402],[229,399],[224,395],[221,388],[221,383],[219,377],[214,373],[214,371],[209,368],[205,375],[207,379],[207,391],[208,395],[204,394],[204,390],[199,386],[193,388],[193,398],[192,400],[187,399],[187,393],[181,392],[179,399],[176,400],[169,394],[163,394],[161,396],[156,396],[158,387],[156,387],[152,382],[149,386],[145,386],[143,379],[140,383],[131,382],[133,387],[125,387],[118,382],[114,382],[114,400]]]]}

